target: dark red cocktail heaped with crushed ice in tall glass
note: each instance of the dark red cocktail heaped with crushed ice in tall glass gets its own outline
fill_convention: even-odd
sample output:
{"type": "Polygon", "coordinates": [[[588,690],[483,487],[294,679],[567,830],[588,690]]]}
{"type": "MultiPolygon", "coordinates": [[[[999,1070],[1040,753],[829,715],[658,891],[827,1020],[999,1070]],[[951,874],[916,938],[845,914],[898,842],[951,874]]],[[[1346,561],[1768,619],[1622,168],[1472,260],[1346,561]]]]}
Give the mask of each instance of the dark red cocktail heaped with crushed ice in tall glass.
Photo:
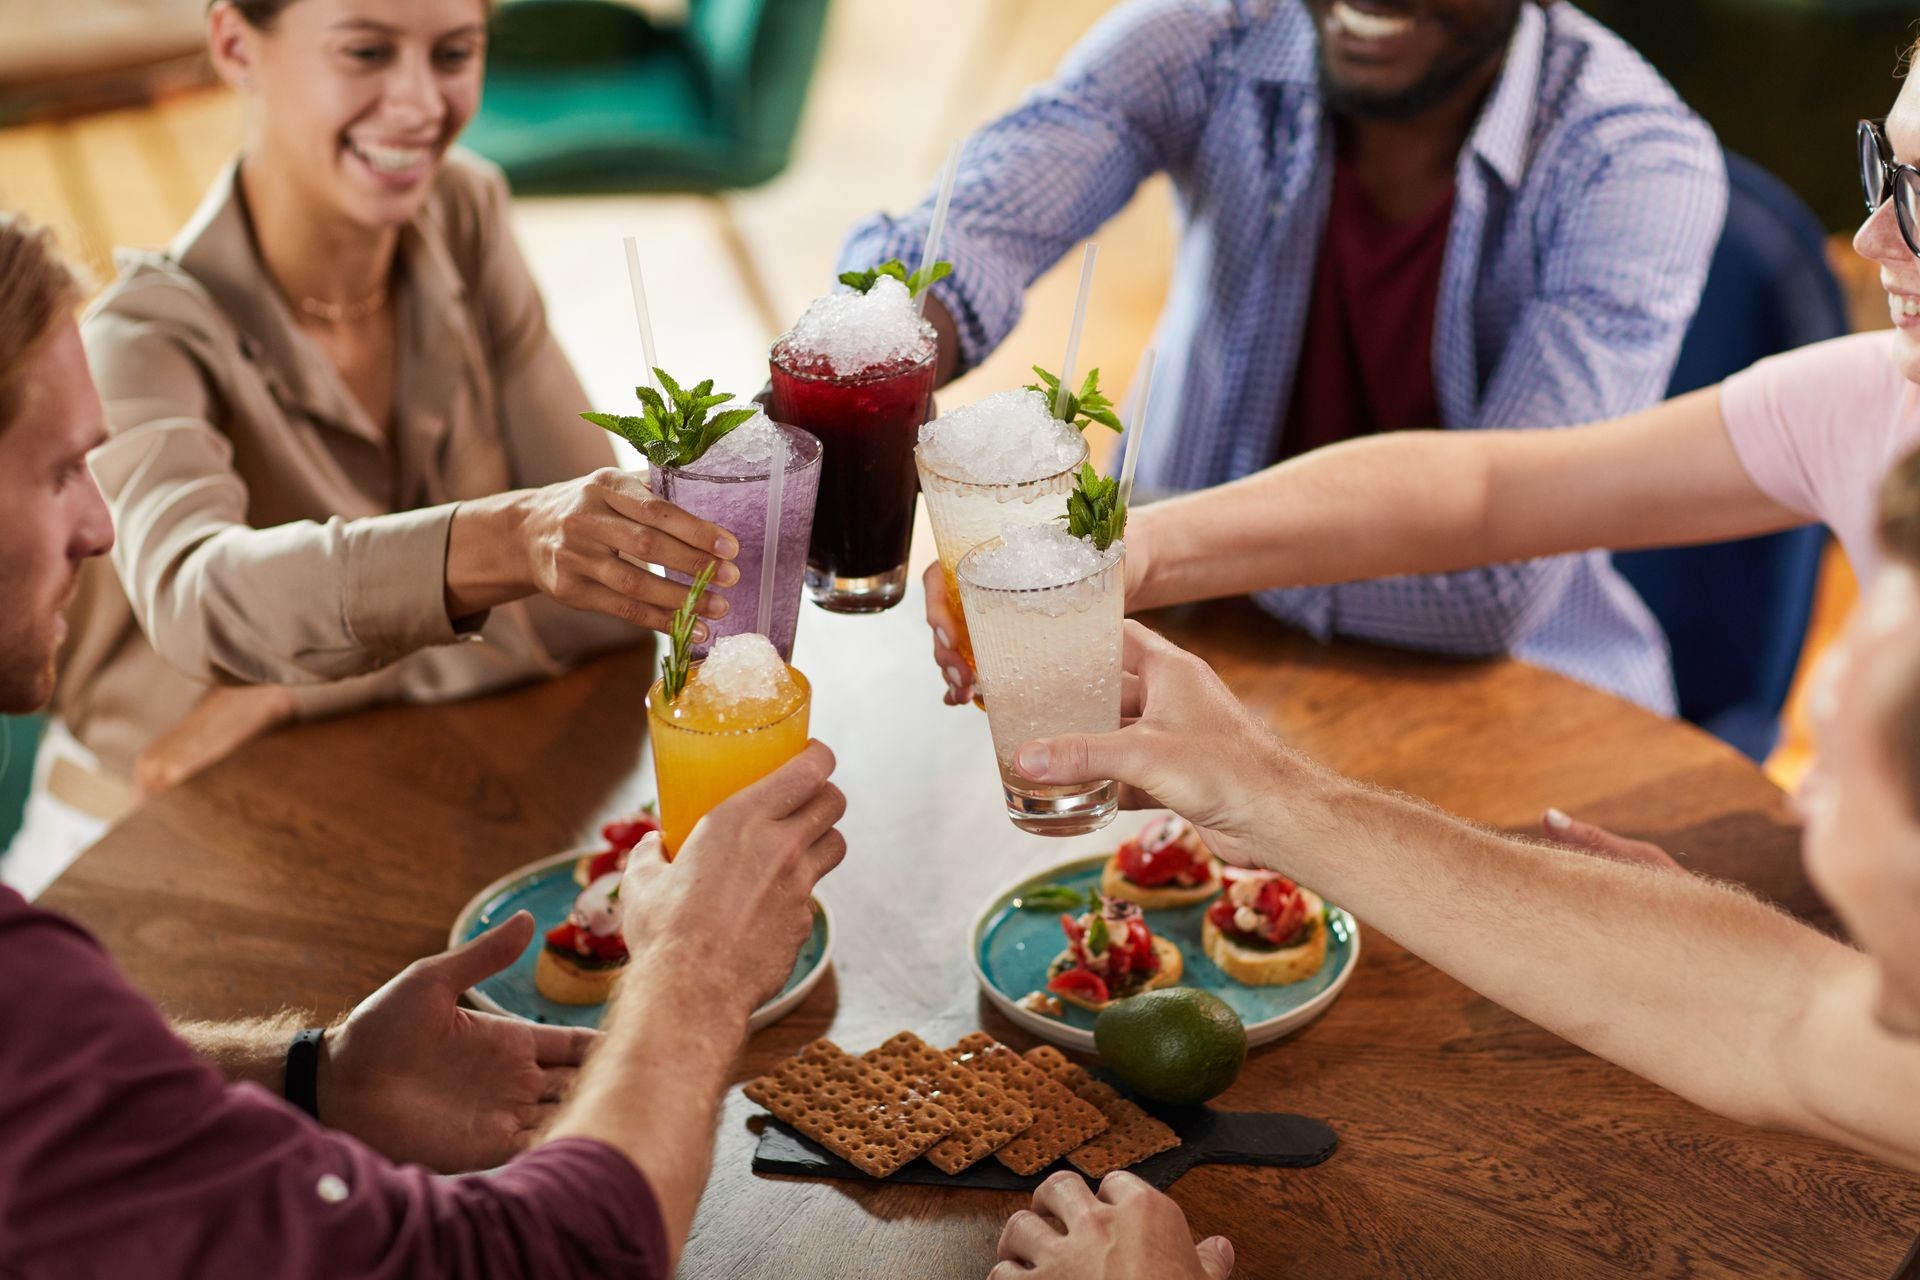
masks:
{"type": "Polygon", "coordinates": [[[770,415],[820,439],[806,595],[879,612],[906,595],[914,443],[933,403],[935,334],[912,294],[879,278],[814,301],[774,344],[770,415]]]}

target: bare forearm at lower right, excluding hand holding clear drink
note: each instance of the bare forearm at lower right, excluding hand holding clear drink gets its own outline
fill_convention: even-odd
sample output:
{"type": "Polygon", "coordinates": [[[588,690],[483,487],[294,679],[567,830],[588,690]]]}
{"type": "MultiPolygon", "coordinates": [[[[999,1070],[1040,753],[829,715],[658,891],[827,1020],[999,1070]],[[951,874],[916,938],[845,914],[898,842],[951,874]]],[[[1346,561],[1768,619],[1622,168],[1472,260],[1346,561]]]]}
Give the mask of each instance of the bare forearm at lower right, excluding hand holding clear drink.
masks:
{"type": "Polygon", "coordinates": [[[1275,773],[1273,829],[1327,825],[1275,841],[1273,869],[1711,1111],[1920,1169],[1920,1044],[1874,1025],[1859,952],[1728,885],[1501,837],[1298,758],[1275,773]]]}

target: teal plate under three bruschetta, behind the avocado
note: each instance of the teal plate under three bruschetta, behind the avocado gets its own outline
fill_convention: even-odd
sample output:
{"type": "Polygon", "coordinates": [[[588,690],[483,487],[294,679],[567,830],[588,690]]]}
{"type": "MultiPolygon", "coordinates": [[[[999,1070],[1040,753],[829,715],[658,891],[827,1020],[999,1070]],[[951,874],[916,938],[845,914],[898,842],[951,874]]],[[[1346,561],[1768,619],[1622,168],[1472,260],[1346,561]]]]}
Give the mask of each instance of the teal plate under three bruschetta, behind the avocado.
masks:
{"type": "MultiPolygon", "coordinates": [[[[1087,892],[1100,887],[1100,867],[1110,854],[1075,858],[1050,871],[1023,875],[1018,883],[987,898],[987,908],[973,919],[970,944],[973,948],[973,977],[995,1007],[1033,1034],[1069,1050],[1092,1054],[1094,1015],[1077,1006],[1066,1006],[1066,1017],[1046,1017],[1020,1007],[1020,998],[1046,990],[1046,967],[1062,950],[1060,912],[1023,912],[1014,906],[1021,889],[1033,885],[1066,885],[1087,892]]],[[[1331,904],[1329,904],[1331,906],[1331,904]]],[[[1332,936],[1327,940],[1327,963],[1304,983],[1286,986],[1242,986],[1219,971],[1200,948],[1200,921],[1206,904],[1148,912],[1146,927],[1181,948],[1185,973],[1177,986],[1198,986],[1213,992],[1246,1023],[1246,1042],[1265,1044],[1288,1031],[1306,1027],[1327,1011],[1359,961],[1359,925],[1352,915],[1331,906],[1332,936]]]]}

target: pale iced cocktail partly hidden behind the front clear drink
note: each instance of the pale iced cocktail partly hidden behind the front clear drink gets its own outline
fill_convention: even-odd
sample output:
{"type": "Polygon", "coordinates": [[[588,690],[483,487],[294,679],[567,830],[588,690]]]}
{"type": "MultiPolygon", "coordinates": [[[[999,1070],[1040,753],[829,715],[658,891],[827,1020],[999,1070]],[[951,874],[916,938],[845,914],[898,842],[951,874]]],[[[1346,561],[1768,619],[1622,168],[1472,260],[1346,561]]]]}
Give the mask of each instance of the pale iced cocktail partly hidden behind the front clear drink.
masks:
{"type": "Polygon", "coordinates": [[[920,428],[914,462],[927,499],[933,543],[960,626],[954,645],[973,660],[954,572],[973,547],[1010,524],[1048,524],[1068,514],[1087,439],[1052,415],[1044,393],[1000,391],[920,428]]]}

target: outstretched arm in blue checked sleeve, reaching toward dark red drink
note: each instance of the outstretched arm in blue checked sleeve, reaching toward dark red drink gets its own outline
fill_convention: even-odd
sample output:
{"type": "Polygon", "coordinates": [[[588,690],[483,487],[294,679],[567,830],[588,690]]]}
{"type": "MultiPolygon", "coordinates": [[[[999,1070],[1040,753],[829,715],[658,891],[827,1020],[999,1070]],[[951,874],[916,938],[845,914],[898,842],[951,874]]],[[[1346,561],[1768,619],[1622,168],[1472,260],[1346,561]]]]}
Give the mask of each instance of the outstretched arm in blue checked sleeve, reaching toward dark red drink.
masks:
{"type": "MultiPolygon", "coordinates": [[[[1068,54],[1060,75],[975,132],[962,152],[933,286],[941,380],[983,361],[1020,320],[1027,286],[1091,236],[1150,175],[1179,169],[1206,125],[1227,6],[1133,0],[1068,54]]],[[[933,196],[854,226],[839,271],[920,261],[933,196]]]]}

